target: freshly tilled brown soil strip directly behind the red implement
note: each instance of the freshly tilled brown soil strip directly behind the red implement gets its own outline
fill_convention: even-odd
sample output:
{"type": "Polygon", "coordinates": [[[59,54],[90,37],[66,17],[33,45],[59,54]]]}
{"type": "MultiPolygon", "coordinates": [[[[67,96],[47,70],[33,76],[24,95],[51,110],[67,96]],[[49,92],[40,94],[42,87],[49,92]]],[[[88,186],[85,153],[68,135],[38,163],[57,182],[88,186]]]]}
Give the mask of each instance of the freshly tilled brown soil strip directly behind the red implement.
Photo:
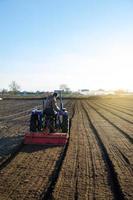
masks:
{"type": "Polygon", "coordinates": [[[56,167],[56,162],[62,153],[62,147],[34,147],[29,153],[31,147],[23,148],[14,160],[3,170],[1,170],[0,180],[0,196],[7,196],[3,199],[25,199],[28,194],[29,199],[40,199],[41,193],[50,184],[50,176],[56,167]],[[38,151],[39,149],[39,151],[38,151]],[[21,156],[25,155],[25,159],[21,161],[21,156]],[[18,165],[16,166],[16,162],[18,165]],[[8,173],[9,171],[9,173],[8,173]],[[7,175],[6,175],[7,174],[7,175]],[[31,183],[38,183],[43,179],[38,190],[35,184],[31,188],[31,183]],[[12,184],[13,183],[13,184],[12,184]],[[33,193],[34,191],[34,193],[33,193]]]}

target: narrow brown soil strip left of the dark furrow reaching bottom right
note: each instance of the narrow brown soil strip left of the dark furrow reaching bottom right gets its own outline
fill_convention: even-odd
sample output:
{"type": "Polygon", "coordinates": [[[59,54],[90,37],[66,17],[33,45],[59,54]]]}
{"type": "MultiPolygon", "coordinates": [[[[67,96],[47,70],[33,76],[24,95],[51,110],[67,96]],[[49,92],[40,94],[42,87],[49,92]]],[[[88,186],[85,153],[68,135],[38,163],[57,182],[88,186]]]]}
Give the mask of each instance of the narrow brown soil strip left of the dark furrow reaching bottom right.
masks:
{"type": "MultiPolygon", "coordinates": [[[[103,152],[101,151],[101,147],[99,146],[99,142],[95,136],[94,130],[92,129],[90,119],[88,118],[88,114],[82,105],[83,113],[83,126],[85,128],[85,134],[87,141],[87,146],[90,148],[90,158],[92,161],[92,177],[94,180],[92,182],[91,188],[93,188],[92,194],[93,199],[114,199],[113,191],[110,187],[110,174],[108,173],[108,167],[106,166],[106,162],[104,161],[103,152]],[[88,131],[87,131],[88,130],[88,131]]],[[[89,190],[90,193],[90,190],[89,190]]]]}

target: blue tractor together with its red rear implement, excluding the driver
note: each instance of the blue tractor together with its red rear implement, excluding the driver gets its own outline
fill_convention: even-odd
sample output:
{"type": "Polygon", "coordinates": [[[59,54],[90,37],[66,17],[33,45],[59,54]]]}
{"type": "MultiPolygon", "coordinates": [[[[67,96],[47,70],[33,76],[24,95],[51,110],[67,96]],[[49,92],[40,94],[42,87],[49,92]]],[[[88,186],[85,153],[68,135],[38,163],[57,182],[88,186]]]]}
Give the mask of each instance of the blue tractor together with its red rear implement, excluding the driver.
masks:
{"type": "Polygon", "coordinates": [[[60,111],[56,116],[46,115],[44,110],[32,110],[30,117],[30,131],[25,133],[24,144],[51,144],[64,145],[68,140],[69,118],[68,112],[63,108],[61,91],[60,111]]]}

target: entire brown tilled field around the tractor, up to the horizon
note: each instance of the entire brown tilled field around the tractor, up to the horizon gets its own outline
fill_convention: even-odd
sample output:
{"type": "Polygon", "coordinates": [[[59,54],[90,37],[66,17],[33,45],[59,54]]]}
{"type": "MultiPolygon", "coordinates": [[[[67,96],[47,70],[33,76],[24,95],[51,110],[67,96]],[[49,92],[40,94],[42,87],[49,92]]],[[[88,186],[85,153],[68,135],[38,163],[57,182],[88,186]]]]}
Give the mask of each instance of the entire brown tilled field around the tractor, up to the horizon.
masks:
{"type": "Polygon", "coordinates": [[[41,100],[0,101],[0,200],[133,199],[133,99],[66,100],[65,146],[24,145],[41,100]]]}

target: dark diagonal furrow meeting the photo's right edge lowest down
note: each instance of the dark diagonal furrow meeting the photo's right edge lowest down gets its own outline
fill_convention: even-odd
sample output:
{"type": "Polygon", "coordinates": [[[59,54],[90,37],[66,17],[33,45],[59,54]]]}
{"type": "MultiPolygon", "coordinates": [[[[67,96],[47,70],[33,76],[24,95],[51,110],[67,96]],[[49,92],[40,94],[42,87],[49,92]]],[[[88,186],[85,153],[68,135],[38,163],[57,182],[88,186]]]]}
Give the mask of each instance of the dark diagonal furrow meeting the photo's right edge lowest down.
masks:
{"type": "MultiPolygon", "coordinates": [[[[88,102],[87,102],[88,103],[88,102]]],[[[117,130],[119,130],[121,132],[122,135],[125,136],[125,138],[128,139],[129,142],[131,142],[133,144],[133,138],[126,133],[123,129],[121,129],[119,126],[117,126],[116,124],[114,124],[110,119],[108,119],[107,117],[105,117],[101,112],[99,112],[94,106],[92,106],[92,104],[88,103],[89,106],[95,110],[103,119],[105,119],[106,121],[108,121],[112,126],[114,126],[117,130]]]]}

